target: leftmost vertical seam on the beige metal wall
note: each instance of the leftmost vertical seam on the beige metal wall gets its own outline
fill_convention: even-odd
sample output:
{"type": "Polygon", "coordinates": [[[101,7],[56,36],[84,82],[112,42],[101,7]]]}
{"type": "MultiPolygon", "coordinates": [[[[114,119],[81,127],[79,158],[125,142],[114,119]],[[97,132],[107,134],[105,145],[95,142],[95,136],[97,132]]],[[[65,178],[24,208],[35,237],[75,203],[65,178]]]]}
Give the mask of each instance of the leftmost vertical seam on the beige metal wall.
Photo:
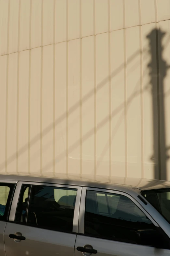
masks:
{"type": "Polygon", "coordinates": [[[7,71],[6,71],[6,120],[5,120],[5,172],[7,173],[7,128],[8,128],[8,62],[9,62],[9,17],[10,17],[10,0],[8,1],[8,23],[7,23],[7,71]]]}

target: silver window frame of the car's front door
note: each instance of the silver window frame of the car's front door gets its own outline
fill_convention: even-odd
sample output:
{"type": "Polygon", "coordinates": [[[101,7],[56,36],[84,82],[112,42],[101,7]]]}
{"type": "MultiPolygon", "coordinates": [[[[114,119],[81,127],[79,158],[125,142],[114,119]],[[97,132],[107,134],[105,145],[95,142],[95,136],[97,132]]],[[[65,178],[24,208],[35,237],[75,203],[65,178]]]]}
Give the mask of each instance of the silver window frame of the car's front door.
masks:
{"type": "Polygon", "coordinates": [[[99,188],[92,188],[92,187],[83,187],[81,193],[81,200],[80,200],[80,210],[79,210],[79,220],[78,220],[78,233],[85,234],[85,205],[86,205],[86,191],[96,191],[96,192],[104,192],[104,193],[111,193],[111,194],[118,194],[122,196],[126,196],[131,199],[135,205],[149,218],[149,220],[154,224],[155,227],[159,227],[159,225],[155,222],[155,220],[147,213],[147,211],[129,194],[117,191],[117,190],[108,190],[108,189],[99,189],[99,188]]]}

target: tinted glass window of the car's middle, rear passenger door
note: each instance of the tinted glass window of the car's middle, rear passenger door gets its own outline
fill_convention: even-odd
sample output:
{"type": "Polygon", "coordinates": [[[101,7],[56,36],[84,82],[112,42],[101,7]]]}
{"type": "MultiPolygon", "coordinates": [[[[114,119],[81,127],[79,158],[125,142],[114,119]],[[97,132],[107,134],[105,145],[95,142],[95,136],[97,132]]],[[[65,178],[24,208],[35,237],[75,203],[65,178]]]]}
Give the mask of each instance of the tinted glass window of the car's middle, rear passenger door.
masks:
{"type": "Polygon", "coordinates": [[[15,221],[72,232],[76,195],[72,188],[22,185],[15,221]]]}

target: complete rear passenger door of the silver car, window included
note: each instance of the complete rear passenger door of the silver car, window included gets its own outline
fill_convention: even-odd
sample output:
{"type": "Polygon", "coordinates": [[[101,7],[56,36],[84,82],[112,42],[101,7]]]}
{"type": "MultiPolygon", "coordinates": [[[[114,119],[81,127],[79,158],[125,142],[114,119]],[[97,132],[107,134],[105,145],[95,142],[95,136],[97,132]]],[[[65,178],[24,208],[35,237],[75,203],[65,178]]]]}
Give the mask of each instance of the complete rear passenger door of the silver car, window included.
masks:
{"type": "Polygon", "coordinates": [[[6,256],[74,255],[81,187],[18,182],[4,241],[6,256]]]}

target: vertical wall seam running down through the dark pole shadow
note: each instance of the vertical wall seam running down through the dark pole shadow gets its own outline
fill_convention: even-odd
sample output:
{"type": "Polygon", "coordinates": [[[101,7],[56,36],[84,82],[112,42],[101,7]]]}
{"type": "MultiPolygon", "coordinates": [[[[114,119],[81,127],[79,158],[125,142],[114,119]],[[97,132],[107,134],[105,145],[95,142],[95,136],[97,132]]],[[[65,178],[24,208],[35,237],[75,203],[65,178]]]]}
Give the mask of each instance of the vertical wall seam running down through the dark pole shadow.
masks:
{"type": "MultiPolygon", "coordinates": [[[[161,179],[161,127],[160,127],[160,83],[159,83],[159,23],[156,23],[156,69],[157,69],[157,104],[158,104],[158,179],[161,179]]],[[[156,173],[155,173],[156,175],[156,173]]]]}

